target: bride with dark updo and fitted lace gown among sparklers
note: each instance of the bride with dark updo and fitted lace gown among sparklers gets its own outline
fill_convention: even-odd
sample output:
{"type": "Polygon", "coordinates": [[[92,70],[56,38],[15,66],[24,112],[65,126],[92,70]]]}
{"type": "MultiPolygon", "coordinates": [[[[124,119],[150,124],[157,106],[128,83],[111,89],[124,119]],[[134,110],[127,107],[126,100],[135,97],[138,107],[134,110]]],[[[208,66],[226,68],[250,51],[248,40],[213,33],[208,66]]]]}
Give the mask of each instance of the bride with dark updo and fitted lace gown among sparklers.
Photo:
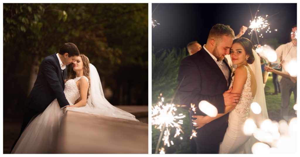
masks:
{"type": "Polygon", "coordinates": [[[259,56],[252,50],[253,44],[247,38],[237,38],[230,48],[232,64],[237,65],[228,92],[241,93],[235,106],[225,106],[225,113],[216,117],[197,117],[198,128],[229,113],[228,128],[220,143],[220,154],[251,153],[252,145],[257,141],[253,135],[245,135],[243,127],[247,118],[254,120],[257,126],[268,118],[265,104],[265,93],[262,85],[262,72],[259,56]],[[252,102],[257,102],[262,112],[254,114],[250,110],[252,102]]]}

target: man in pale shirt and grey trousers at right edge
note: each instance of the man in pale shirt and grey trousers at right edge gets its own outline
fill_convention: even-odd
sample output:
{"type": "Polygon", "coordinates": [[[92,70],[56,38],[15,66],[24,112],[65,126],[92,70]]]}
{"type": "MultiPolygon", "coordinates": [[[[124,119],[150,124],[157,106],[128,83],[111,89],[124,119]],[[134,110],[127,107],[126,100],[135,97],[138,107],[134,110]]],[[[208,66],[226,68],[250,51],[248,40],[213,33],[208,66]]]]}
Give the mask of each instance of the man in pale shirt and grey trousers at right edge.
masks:
{"type": "MultiPolygon", "coordinates": [[[[282,62],[282,72],[289,72],[287,65],[292,60],[297,61],[297,39],[295,38],[295,32],[297,26],[292,28],[291,42],[282,44],[276,49],[277,57],[282,62]]],[[[281,109],[280,117],[288,121],[288,106],[292,92],[294,93],[294,100],[297,100],[297,82],[293,83],[290,78],[282,77],[280,80],[281,85],[281,109]]]]}

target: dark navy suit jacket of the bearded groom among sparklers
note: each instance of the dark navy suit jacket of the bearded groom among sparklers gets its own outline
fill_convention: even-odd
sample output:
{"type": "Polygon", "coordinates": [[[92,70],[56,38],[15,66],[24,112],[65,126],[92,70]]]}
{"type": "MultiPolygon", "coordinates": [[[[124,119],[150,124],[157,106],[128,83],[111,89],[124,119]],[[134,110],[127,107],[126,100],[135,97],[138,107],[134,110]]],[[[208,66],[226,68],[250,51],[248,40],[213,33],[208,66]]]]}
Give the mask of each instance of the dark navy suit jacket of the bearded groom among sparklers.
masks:
{"type": "MultiPolygon", "coordinates": [[[[224,113],[223,93],[228,90],[231,82],[231,69],[226,61],[226,58],[224,58],[223,64],[226,64],[229,68],[228,84],[221,69],[204,48],[182,60],[178,81],[180,83],[183,77],[184,80],[179,87],[178,95],[180,104],[187,106],[185,109],[189,109],[191,103],[196,105],[196,113],[193,113],[193,115],[206,116],[198,108],[198,104],[202,100],[213,104],[217,108],[218,113],[224,113]]],[[[211,121],[200,129],[196,129],[196,142],[202,144],[221,142],[228,126],[227,119],[228,114],[211,121]]]]}

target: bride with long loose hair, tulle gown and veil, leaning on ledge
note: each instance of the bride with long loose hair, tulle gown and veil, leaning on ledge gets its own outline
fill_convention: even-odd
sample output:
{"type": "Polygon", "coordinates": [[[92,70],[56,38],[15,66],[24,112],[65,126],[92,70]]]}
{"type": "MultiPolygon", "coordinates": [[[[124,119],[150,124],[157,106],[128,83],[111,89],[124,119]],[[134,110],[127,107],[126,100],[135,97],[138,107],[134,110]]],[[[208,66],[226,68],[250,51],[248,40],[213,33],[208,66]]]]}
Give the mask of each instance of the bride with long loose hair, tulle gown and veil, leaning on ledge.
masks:
{"type": "Polygon", "coordinates": [[[138,121],[134,115],[111,105],[104,97],[97,69],[80,54],[72,64],[64,94],[70,106],[61,109],[55,99],[23,131],[11,153],[53,153],[64,111],[73,110],[138,121]],[[78,101],[78,102],[77,102],[78,101]]]}

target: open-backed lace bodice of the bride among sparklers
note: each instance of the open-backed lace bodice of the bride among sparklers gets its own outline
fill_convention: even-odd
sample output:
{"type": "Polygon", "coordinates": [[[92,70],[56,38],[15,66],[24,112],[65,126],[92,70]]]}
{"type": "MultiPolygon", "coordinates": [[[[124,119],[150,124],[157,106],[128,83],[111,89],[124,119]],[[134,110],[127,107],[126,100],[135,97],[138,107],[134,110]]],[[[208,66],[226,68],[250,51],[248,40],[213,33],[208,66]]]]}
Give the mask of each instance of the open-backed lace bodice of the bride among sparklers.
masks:
{"type": "MultiPolygon", "coordinates": [[[[245,65],[243,65],[245,66],[245,65]]],[[[245,66],[247,69],[247,80],[246,83],[244,84],[244,88],[241,93],[241,98],[238,101],[238,104],[235,106],[234,110],[232,112],[235,113],[235,115],[238,117],[239,120],[246,120],[249,112],[250,112],[250,105],[253,102],[254,97],[252,96],[251,92],[251,75],[250,71],[247,66],[245,66]]],[[[232,82],[234,80],[234,77],[232,77],[232,82]]],[[[232,86],[232,82],[230,87],[232,86]]],[[[229,88],[230,88],[229,87],[229,88]]]]}

